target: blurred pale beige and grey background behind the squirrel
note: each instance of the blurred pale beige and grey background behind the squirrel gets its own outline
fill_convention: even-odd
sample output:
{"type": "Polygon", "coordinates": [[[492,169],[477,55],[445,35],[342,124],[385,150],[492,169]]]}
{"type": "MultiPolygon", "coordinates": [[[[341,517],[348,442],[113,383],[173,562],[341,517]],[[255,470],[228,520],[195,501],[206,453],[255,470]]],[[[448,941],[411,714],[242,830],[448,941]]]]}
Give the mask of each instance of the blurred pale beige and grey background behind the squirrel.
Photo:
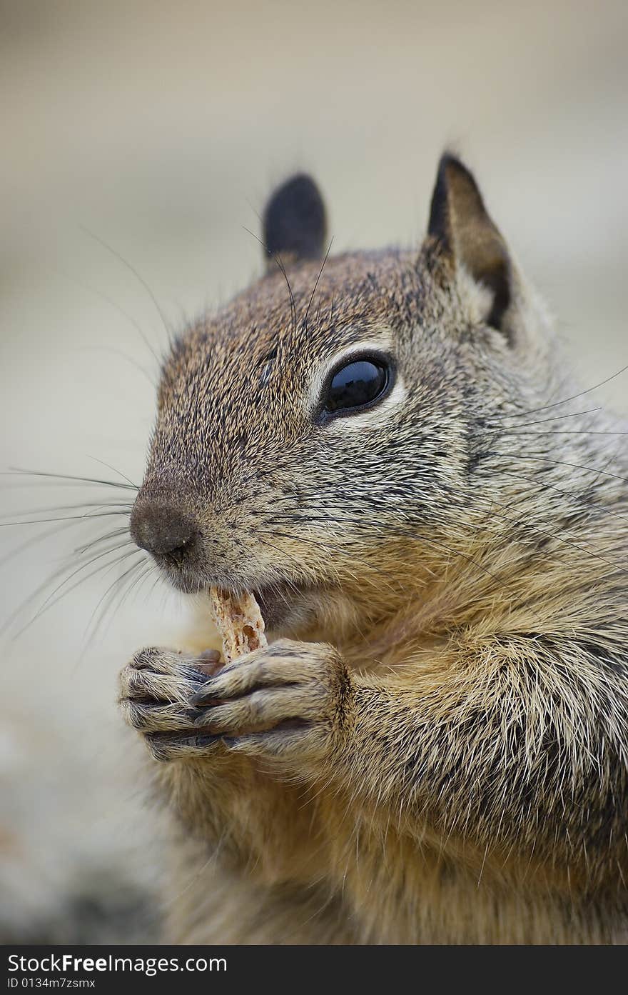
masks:
{"type": "MultiPolygon", "coordinates": [[[[624,0],[0,2],[0,469],[139,482],[167,329],[260,274],[272,185],[317,177],[334,251],[410,244],[445,145],[583,386],[611,377],[627,51],[624,0]]],[[[625,413],[627,385],[595,397],[625,413]]],[[[153,574],[110,589],[123,514],[71,517],[128,489],[1,480],[0,940],[150,939],[160,832],[116,674],[186,606],[153,574]]]]}

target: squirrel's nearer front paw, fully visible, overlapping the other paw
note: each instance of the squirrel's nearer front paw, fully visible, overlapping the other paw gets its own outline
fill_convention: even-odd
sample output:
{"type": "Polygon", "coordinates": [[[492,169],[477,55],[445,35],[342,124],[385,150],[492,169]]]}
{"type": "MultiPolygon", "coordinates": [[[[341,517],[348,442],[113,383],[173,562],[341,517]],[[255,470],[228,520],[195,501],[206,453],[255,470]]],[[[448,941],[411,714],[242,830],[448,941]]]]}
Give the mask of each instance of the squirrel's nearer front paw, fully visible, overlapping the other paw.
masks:
{"type": "Polygon", "coordinates": [[[281,639],[226,667],[193,701],[203,708],[197,726],[230,749],[289,759],[329,754],[346,730],[351,695],[332,646],[281,639]]]}

